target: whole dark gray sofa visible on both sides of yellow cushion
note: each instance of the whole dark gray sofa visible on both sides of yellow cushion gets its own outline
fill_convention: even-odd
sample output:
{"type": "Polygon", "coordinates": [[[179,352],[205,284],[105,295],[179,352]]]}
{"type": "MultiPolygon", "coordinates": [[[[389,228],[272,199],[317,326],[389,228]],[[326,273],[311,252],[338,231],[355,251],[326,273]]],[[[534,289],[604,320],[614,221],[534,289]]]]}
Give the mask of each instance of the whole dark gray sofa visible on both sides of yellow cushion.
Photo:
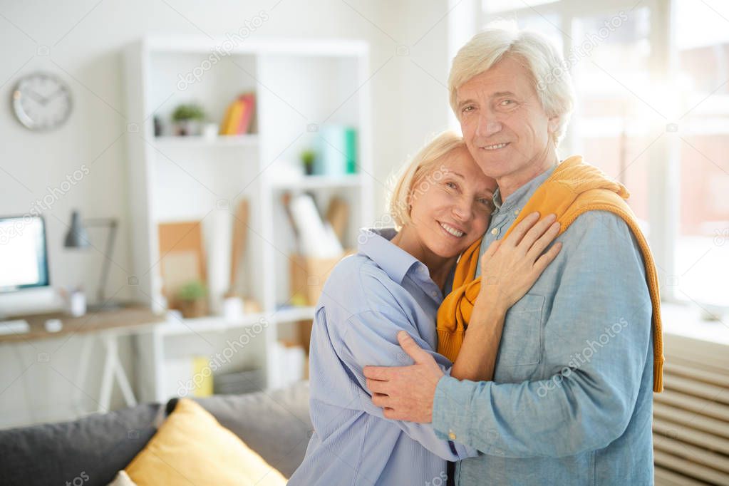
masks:
{"type": "MultiPolygon", "coordinates": [[[[308,383],[196,400],[284,476],[303,460],[311,436],[308,383]]],[[[106,485],[149,442],[175,404],[173,399],[1,430],[0,485],[106,485]]]]}

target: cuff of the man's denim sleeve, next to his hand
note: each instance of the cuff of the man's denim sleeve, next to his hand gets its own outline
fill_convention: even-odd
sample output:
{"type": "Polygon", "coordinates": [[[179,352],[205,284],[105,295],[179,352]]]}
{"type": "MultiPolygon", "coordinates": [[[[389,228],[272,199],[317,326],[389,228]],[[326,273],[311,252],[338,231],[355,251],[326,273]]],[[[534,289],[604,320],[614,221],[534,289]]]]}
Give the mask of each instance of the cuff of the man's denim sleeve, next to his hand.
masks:
{"type": "Polygon", "coordinates": [[[433,397],[433,430],[439,439],[469,444],[471,396],[477,383],[443,376],[433,397]]]}

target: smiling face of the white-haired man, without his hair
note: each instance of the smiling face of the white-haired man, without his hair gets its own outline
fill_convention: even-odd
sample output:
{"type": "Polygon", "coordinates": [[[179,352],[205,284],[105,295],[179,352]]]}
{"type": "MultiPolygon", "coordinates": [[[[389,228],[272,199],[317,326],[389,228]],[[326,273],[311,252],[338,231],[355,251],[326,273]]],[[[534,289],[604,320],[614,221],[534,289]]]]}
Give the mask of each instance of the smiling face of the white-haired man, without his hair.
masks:
{"type": "Polygon", "coordinates": [[[456,94],[466,145],[487,176],[518,179],[547,158],[558,119],[547,117],[529,71],[517,60],[500,60],[456,94]]]}

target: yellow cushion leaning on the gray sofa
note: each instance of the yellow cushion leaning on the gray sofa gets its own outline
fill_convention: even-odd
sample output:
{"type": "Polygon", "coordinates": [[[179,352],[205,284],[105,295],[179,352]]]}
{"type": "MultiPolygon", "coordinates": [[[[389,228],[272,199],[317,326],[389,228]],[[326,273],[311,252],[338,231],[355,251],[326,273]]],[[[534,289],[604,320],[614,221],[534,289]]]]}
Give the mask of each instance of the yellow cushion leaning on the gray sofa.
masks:
{"type": "Polygon", "coordinates": [[[285,485],[286,479],[190,399],[180,399],[125,468],[145,485],[285,485]]]}

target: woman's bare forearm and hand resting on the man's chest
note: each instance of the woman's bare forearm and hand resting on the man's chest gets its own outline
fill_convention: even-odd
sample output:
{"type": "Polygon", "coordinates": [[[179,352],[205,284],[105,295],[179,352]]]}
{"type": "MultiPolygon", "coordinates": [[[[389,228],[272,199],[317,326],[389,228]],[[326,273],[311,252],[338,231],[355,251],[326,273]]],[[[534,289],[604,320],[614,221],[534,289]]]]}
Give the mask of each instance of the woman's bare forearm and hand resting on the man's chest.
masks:
{"type": "Polygon", "coordinates": [[[458,380],[494,379],[504,316],[526,294],[559,253],[559,224],[553,214],[539,220],[532,213],[503,241],[494,241],[481,259],[481,289],[476,299],[451,376],[458,380]]]}

